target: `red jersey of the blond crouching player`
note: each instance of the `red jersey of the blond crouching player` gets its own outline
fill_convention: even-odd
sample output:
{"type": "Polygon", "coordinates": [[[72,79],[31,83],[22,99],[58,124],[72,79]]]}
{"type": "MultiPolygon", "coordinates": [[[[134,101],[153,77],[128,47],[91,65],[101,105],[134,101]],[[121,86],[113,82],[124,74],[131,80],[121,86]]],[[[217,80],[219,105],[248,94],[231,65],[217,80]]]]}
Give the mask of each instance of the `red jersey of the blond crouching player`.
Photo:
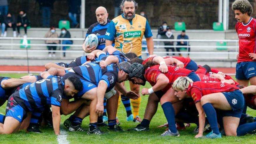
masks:
{"type": "Polygon", "coordinates": [[[237,86],[223,83],[223,82],[205,82],[205,81],[196,81],[189,85],[187,90],[187,95],[192,97],[194,102],[201,100],[201,97],[211,93],[222,93],[222,92],[231,92],[238,90],[237,86]]]}

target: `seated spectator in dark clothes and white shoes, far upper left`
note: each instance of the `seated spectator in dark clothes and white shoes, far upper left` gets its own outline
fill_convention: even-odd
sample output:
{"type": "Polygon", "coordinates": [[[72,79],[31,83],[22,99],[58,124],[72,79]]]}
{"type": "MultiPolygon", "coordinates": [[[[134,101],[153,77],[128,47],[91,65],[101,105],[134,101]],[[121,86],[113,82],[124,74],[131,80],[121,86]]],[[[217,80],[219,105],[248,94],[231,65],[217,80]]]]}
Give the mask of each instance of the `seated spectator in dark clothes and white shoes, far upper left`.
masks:
{"type": "Polygon", "coordinates": [[[7,16],[5,17],[4,23],[6,25],[5,31],[3,36],[6,37],[7,35],[7,28],[13,28],[13,37],[16,37],[16,22],[15,18],[11,13],[8,13],[7,16]]]}

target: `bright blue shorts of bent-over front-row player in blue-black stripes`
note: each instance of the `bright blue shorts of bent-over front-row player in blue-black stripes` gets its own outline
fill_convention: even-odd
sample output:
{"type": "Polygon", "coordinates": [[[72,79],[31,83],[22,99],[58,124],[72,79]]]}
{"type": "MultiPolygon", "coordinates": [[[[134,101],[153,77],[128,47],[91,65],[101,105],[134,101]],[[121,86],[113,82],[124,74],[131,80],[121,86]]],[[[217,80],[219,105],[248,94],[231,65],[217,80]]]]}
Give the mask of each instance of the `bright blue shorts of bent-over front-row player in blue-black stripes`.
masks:
{"type": "Polygon", "coordinates": [[[84,79],[83,77],[81,77],[80,75],[74,73],[74,72],[67,72],[62,79],[67,79],[70,76],[77,76],[81,83],[83,83],[83,90],[80,90],[76,95],[78,98],[82,97],[84,93],[88,92],[89,90],[93,89],[93,88],[97,88],[97,86],[89,81],[87,81],[86,79],[84,79]]]}

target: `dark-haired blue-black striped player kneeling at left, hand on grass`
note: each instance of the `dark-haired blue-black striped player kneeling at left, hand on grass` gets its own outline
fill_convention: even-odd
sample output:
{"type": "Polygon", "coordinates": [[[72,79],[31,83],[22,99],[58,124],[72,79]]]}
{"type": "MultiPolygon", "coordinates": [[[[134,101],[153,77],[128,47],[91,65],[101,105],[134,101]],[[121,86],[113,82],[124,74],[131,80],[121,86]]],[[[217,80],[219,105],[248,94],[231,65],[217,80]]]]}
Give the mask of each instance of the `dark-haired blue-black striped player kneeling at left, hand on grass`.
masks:
{"type": "Polygon", "coordinates": [[[74,96],[82,89],[81,81],[68,77],[65,81],[58,77],[49,76],[32,83],[13,93],[6,106],[6,120],[0,124],[0,134],[11,134],[19,129],[20,123],[30,111],[43,111],[45,105],[51,104],[53,127],[55,134],[60,134],[60,105],[62,95],[74,96]]]}

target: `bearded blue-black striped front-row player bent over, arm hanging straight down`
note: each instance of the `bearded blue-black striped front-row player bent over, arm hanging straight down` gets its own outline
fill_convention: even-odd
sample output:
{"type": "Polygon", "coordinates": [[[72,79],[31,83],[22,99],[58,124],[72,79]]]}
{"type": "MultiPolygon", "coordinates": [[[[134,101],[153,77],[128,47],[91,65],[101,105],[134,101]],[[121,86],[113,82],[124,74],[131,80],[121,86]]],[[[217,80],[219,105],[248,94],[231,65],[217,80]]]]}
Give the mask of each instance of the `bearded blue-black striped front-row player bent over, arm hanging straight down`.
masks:
{"type": "MultiPolygon", "coordinates": [[[[106,55],[100,54],[98,56],[99,60],[105,60],[106,55]]],[[[76,75],[80,78],[81,82],[83,83],[83,90],[77,93],[78,97],[91,100],[90,104],[90,124],[88,129],[88,134],[104,134],[98,127],[97,127],[97,118],[103,114],[103,99],[105,93],[110,92],[116,82],[121,83],[122,81],[127,80],[128,78],[128,69],[131,64],[129,62],[122,62],[119,64],[110,64],[105,68],[101,68],[99,63],[91,62],[79,67],[74,67],[73,69],[69,70],[64,76],[63,79],[69,77],[70,75],[76,75]],[[98,89],[98,90],[97,90],[98,89]],[[95,112],[96,111],[96,112],[95,112]]],[[[133,92],[124,92],[134,96],[135,93],[133,92]]],[[[136,95],[138,96],[138,95],[136,95]]],[[[135,97],[136,97],[135,96],[135,97]]],[[[113,102],[113,111],[109,113],[113,113],[111,115],[111,120],[115,120],[116,110],[117,109],[117,102],[118,97],[112,98],[108,97],[108,102],[113,102]],[[116,105],[115,105],[116,102],[116,105]]],[[[111,109],[111,108],[110,108],[111,109]]],[[[109,114],[108,113],[108,114],[109,114]]],[[[81,119],[82,120],[82,119],[81,119]]],[[[113,122],[114,123],[114,122],[113,122]]],[[[116,123],[116,122],[115,122],[116,123]]],[[[109,128],[117,127],[115,125],[109,125],[109,128]]]]}

